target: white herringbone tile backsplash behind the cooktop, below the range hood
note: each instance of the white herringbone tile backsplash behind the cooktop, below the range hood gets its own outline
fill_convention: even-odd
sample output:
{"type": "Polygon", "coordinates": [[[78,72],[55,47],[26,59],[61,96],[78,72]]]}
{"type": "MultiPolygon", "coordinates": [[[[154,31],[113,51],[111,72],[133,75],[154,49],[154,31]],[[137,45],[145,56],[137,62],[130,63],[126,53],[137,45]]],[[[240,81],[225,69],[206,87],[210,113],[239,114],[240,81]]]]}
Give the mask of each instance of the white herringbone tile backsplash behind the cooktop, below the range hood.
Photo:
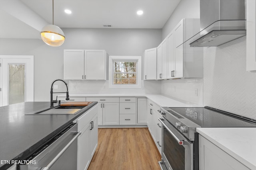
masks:
{"type": "Polygon", "coordinates": [[[246,37],[204,49],[204,105],[256,119],[256,73],[246,71],[246,37]]]}

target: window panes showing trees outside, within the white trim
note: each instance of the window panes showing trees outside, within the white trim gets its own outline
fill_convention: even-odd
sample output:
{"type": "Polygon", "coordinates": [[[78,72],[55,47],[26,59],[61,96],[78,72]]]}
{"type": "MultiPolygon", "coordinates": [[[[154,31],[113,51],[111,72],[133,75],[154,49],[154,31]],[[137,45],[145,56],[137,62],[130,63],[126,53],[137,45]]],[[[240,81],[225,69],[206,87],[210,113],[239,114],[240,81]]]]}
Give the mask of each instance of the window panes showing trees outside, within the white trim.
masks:
{"type": "Polygon", "coordinates": [[[114,84],[137,84],[137,62],[114,61],[114,84]]]}

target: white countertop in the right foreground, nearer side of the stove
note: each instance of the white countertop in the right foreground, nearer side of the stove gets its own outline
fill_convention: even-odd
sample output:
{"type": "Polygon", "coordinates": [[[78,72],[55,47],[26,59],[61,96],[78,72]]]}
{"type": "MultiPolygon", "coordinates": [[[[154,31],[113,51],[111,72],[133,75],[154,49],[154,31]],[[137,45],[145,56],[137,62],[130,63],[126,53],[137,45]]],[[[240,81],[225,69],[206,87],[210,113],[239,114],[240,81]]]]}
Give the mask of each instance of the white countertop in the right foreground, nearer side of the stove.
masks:
{"type": "Polygon", "coordinates": [[[196,131],[248,168],[256,169],[256,127],[206,127],[196,131]]]}

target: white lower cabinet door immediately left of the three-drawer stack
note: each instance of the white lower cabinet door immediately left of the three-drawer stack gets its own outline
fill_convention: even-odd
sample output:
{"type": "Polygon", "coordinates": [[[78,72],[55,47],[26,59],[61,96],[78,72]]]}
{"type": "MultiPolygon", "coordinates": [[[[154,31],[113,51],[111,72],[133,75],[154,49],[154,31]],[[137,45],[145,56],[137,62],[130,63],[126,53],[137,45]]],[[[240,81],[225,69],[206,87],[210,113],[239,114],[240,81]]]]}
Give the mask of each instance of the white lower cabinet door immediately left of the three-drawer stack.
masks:
{"type": "Polygon", "coordinates": [[[119,125],[119,103],[103,103],[103,125],[119,125]]]}

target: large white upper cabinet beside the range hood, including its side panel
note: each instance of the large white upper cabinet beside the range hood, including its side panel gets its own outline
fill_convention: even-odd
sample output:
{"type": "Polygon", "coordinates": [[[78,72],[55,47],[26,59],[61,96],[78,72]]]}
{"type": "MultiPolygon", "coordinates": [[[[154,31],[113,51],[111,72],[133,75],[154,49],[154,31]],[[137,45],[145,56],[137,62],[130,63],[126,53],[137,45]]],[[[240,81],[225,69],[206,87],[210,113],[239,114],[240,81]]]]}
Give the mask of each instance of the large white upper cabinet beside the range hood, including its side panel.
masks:
{"type": "Polygon", "coordinates": [[[203,48],[186,41],[199,32],[199,25],[200,19],[182,19],[166,37],[167,78],[203,77],[203,48]]]}

